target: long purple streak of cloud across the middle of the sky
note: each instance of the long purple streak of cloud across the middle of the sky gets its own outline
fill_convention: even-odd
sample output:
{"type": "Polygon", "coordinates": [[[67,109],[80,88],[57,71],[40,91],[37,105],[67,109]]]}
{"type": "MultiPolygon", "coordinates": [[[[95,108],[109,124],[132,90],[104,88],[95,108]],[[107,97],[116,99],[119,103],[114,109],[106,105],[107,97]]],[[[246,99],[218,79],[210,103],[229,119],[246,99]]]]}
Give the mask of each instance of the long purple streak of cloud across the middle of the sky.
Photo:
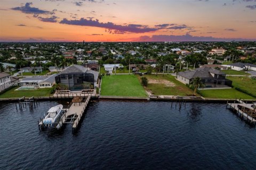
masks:
{"type": "Polygon", "coordinates": [[[144,32],[152,32],[157,31],[157,28],[149,28],[146,25],[140,24],[129,24],[129,25],[118,25],[114,24],[113,22],[99,22],[99,20],[87,20],[85,18],[81,18],[80,20],[67,20],[63,19],[60,21],[62,24],[69,24],[69,25],[81,25],[81,26],[90,26],[90,27],[99,27],[99,28],[106,28],[110,30],[118,30],[124,32],[132,32],[132,33],[144,33],[144,32]]]}

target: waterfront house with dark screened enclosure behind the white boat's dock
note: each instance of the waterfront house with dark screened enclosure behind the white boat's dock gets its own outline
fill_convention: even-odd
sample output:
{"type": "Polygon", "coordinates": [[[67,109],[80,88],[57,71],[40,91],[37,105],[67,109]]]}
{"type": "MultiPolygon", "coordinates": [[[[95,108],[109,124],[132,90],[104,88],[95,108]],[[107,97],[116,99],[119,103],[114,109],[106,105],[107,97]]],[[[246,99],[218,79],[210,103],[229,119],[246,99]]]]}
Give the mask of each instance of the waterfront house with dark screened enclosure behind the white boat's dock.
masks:
{"type": "Polygon", "coordinates": [[[82,65],[71,65],[59,72],[56,83],[64,84],[69,90],[93,89],[97,87],[99,72],[89,70],[82,65]]]}

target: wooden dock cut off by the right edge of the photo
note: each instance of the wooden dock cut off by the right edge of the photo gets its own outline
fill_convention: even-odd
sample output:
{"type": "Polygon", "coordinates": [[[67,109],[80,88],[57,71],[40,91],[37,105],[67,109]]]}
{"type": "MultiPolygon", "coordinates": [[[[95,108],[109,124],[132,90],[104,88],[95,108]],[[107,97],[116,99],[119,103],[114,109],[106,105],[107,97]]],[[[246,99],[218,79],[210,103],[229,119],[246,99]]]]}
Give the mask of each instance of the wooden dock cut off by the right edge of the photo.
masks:
{"type": "Polygon", "coordinates": [[[247,104],[241,99],[236,99],[234,103],[227,102],[227,108],[233,110],[238,116],[251,124],[256,124],[256,104],[247,104]]]}

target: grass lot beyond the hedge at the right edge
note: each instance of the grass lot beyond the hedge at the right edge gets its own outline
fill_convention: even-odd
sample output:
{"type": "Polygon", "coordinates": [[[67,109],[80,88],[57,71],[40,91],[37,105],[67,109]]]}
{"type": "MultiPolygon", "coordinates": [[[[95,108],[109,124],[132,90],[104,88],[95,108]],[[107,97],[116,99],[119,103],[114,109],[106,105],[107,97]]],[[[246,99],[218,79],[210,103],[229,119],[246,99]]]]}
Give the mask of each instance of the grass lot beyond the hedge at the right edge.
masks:
{"type": "Polygon", "coordinates": [[[234,87],[248,91],[250,94],[256,95],[256,80],[246,77],[227,77],[232,80],[234,87]]]}

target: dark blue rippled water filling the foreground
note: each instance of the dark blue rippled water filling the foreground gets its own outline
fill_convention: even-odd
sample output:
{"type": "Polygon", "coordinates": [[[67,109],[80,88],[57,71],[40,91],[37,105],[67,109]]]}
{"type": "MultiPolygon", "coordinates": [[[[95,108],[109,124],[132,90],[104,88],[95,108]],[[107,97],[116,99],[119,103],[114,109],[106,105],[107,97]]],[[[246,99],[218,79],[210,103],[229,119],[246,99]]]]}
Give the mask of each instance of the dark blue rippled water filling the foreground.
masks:
{"type": "Polygon", "coordinates": [[[76,134],[41,132],[53,105],[0,104],[0,169],[255,169],[256,129],[223,104],[99,101],[76,134]]]}

